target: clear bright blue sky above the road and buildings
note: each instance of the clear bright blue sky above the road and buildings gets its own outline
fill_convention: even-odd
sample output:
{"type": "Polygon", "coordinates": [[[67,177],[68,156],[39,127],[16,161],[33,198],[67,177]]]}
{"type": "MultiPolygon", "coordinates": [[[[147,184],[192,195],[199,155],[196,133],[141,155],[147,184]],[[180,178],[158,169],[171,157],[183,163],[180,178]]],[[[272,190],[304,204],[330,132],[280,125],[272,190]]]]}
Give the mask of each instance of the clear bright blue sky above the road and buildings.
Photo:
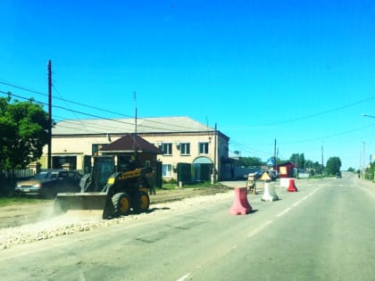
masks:
{"type": "Polygon", "coordinates": [[[281,159],[321,162],[323,147],[343,169],[375,154],[373,1],[4,0],[0,14],[0,91],[46,102],[4,82],[46,94],[51,60],[54,105],[72,111],[134,116],[137,92],[138,117],[217,123],[242,156],[267,160],[275,139],[281,159]]]}

